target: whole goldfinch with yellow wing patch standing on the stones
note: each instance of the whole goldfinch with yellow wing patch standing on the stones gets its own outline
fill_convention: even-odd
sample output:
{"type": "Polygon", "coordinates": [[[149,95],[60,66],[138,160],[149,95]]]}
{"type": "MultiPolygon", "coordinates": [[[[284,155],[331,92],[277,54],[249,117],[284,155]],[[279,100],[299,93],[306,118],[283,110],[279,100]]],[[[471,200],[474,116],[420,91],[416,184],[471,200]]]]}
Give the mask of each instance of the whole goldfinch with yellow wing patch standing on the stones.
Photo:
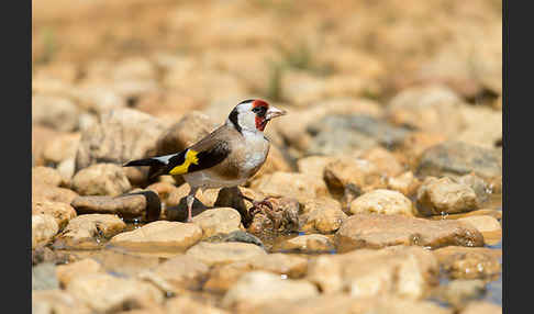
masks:
{"type": "Polygon", "coordinates": [[[187,222],[190,223],[199,189],[237,187],[262,168],[270,147],[264,130],[270,120],[286,114],[285,110],[265,100],[247,99],[234,106],[221,126],[186,149],[132,160],[123,167],[149,166],[148,179],[163,175],[182,176],[190,187],[186,199],[187,222]]]}

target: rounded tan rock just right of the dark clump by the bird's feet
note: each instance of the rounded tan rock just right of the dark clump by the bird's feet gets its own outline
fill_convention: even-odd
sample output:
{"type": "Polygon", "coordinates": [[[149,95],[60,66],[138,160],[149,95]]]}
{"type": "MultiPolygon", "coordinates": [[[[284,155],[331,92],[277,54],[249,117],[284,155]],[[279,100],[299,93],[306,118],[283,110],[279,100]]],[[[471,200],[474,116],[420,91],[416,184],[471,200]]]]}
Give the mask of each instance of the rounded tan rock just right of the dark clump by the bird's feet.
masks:
{"type": "Polygon", "coordinates": [[[340,202],[333,199],[310,200],[303,204],[303,212],[301,229],[321,234],[336,232],[347,217],[340,202]]]}

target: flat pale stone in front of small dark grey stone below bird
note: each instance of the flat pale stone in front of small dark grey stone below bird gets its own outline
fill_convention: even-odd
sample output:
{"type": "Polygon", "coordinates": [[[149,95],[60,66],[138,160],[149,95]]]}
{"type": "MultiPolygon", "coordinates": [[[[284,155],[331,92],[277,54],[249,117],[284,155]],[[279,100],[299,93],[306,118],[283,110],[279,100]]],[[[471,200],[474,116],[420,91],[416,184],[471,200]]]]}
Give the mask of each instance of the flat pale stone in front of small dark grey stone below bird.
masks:
{"type": "Polygon", "coordinates": [[[208,266],[225,265],[265,255],[265,250],[247,243],[207,243],[201,242],[186,251],[208,266]]]}

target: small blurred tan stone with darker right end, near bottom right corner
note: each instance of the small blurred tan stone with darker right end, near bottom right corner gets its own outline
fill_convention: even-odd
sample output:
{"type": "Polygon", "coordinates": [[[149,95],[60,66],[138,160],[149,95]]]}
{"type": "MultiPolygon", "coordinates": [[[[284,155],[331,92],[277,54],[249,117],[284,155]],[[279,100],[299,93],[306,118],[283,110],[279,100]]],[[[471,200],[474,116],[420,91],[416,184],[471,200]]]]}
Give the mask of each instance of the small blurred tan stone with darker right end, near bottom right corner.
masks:
{"type": "Polygon", "coordinates": [[[465,303],[480,299],[486,291],[486,283],[480,279],[456,279],[446,285],[438,287],[433,293],[438,300],[447,302],[454,307],[461,307],[465,303]]]}

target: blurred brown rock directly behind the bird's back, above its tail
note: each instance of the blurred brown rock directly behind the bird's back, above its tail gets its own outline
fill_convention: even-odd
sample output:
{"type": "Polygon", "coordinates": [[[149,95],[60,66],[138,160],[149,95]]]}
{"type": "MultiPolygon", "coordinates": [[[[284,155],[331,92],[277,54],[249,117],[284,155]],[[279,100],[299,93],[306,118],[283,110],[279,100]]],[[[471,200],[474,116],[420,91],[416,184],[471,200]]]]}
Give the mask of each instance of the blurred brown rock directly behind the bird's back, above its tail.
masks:
{"type": "Polygon", "coordinates": [[[162,133],[157,139],[156,155],[181,152],[210,134],[216,126],[216,122],[204,113],[191,111],[162,133]]]}

